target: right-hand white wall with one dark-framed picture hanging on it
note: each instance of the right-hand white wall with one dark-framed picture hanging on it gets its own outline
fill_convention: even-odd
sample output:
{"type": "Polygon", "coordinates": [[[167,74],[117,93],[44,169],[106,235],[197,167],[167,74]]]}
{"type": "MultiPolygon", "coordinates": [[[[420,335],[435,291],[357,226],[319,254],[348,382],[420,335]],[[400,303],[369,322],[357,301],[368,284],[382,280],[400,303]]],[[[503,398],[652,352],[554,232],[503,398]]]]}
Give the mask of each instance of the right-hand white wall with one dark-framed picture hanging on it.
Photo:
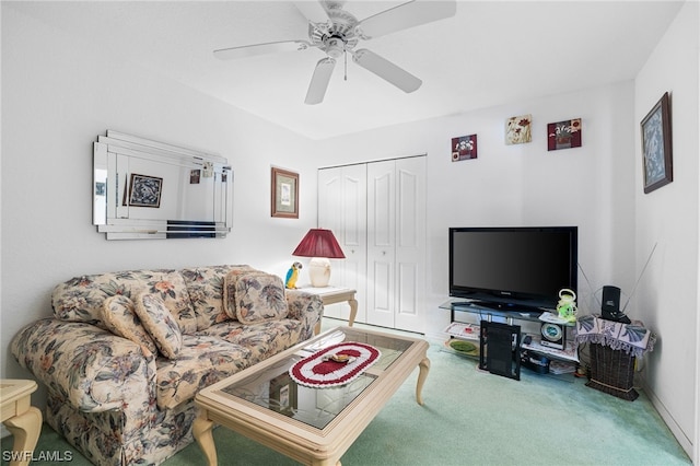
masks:
{"type": "Polygon", "coordinates": [[[635,127],[634,186],[637,270],[656,252],[640,281],[635,308],[658,333],[646,383],[654,405],[698,463],[698,2],[686,2],[640,71],[634,121],[641,121],[664,92],[670,94],[674,182],[643,194],[641,136],[635,127]]]}

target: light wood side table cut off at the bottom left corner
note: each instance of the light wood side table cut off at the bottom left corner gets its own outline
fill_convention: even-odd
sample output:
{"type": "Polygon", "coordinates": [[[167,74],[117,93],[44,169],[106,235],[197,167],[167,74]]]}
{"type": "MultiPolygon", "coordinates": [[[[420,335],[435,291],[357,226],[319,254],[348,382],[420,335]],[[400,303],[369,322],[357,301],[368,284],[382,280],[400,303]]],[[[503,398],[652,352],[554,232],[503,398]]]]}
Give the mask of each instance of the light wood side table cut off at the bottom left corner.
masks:
{"type": "Polygon", "coordinates": [[[32,406],[34,381],[1,380],[0,408],[2,423],[14,435],[10,465],[28,465],[42,432],[42,411],[32,406]]]}

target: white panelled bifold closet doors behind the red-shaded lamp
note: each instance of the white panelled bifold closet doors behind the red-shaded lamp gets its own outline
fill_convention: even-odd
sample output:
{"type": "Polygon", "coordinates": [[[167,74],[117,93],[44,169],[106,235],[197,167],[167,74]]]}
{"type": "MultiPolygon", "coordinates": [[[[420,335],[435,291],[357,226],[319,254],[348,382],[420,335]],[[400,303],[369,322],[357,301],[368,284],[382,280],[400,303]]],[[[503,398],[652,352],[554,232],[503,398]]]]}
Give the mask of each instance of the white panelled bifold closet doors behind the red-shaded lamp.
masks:
{"type": "Polygon", "coordinates": [[[332,260],[330,284],[357,290],[355,322],[424,331],[425,156],[320,168],[318,226],[347,257],[332,260]]]}

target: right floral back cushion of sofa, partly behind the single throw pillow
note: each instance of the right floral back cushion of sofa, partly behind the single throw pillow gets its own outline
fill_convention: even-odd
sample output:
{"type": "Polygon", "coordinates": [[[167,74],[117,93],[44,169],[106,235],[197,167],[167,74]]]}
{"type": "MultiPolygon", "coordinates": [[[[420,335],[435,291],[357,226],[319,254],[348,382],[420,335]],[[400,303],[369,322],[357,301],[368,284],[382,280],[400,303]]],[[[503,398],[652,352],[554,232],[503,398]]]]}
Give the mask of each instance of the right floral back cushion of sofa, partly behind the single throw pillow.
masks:
{"type": "Polygon", "coordinates": [[[223,308],[224,277],[226,273],[252,270],[255,269],[247,265],[207,266],[182,270],[197,318],[197,330],[231,318],[223,308]]]}

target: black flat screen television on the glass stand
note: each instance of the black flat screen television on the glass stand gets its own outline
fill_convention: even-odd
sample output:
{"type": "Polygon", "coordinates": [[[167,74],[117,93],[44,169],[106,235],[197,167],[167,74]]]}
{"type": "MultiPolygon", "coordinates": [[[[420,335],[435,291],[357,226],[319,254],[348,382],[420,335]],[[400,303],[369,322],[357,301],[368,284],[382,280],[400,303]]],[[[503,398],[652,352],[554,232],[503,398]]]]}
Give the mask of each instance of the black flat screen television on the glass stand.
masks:
{"type": "Polygon", "coordinates": [[[450,295],[488,307],[557,307],[578,290],[576,226],[451,228],[450,295]]]}

